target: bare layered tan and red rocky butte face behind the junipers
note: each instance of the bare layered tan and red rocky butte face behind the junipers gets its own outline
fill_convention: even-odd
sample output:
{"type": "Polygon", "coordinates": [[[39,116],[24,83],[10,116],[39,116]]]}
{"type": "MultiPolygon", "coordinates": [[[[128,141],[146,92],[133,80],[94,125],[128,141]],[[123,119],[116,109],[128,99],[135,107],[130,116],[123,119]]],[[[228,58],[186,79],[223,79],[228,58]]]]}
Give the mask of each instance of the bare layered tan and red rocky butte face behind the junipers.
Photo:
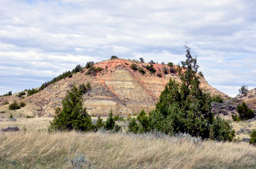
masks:
{"type": "MultiPolygon", "coordinates": [[[[175,73],[163,74],[164,67],[167,65],[154,64],[156,73],[152,74],[145,67],[147,63],[130,61],[123,59],[106,60],[94,64],[95,67],[101,67],[103,70],[97,75],[86,75],[84,71],[73,74],[71,78],[65,78],[55,82],[44,90],[20,99],[16,95],[0,98],[0,111],[10,112],[9,105],[3,105],[5,101],[9,103],[18,100],[27,103],[26,107],[15,111],[20,116],[52,116],[57,107],[61,107],[61,100],[64,98],[67,90],[74,84],[89,82],[92,89],[84,95],[84,105],[92,115],[107,115],[110,109],[114,114],[127,115],[128,113],[137,113],[141,109],[150,111],[155,108],[161,91],[170,78],[180,82],[179,76],[175,73]],[[134,71],[130,68],[131,64],[142,67],[145,74],[134,71]],[[162,77],[156,74],[162,73],[162,77]]],[[[208,82],[200,77],[201,88],[210,92],[211,95],[221,95],[228,98],[227,95],[216,90],[208,82]]]]}

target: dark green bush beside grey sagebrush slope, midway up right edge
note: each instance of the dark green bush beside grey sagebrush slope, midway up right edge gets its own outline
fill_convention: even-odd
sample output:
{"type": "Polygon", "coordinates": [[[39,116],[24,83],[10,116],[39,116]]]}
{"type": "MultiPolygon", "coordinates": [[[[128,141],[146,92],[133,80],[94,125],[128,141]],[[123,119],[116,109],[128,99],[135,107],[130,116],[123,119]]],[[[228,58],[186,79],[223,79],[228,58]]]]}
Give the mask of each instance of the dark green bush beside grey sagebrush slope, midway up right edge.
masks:
{"type": "Polygon", "coordinates": [[[248,120],[254,117],[254,111],[248,108],[245,102],[242,102],[241,105],[237,105],[237,112],[239,116],[237,116],[237,114],[232,115],[234,121],[248,120]]]}

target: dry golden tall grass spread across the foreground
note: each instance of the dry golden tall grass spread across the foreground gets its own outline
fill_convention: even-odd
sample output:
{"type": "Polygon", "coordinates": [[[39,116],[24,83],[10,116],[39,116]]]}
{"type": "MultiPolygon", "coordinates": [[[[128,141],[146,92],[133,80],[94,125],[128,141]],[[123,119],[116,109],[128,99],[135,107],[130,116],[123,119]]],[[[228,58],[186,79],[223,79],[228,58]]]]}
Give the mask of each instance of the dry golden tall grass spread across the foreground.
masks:
{"type": "Polygon", "coordinates": [[[246,142],[35,131],[1,133],[0,142],[0,168],[72,168],[65,157],[76,154],[94,168],[256,168],[256,147],[246,142]]]}

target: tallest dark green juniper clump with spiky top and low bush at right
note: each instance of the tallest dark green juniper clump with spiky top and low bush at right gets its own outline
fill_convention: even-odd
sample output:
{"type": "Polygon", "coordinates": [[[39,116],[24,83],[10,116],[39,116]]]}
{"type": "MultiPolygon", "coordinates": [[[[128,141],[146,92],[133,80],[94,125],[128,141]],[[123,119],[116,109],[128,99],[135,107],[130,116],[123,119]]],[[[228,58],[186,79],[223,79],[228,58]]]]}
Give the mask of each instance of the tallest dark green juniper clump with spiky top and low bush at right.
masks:
{"type": "MultiPolygon", "coordinates": [[[[187,60],[181,62],[182,67],[179,66],[177,69],[181,84],[170,78],[170,82],[160,95],[159,102],[156,103],[156,109],[149,114],[148,124],[144,126],[166,134],[181,132],[201,138],[232,140],[234,132],[228,122],[214,118],[210,95],[199,87],[200,81],[196,75],[199,68],[197,60],[191,56],[187,46],[185,49],[187,60]],[[227,131],[223,133],[223,130],[227,131]]],[[[135,125],[134,121],[131,122],[135,125]]],[[[144,123],[146,122],[145,120],[144,123]]]]}

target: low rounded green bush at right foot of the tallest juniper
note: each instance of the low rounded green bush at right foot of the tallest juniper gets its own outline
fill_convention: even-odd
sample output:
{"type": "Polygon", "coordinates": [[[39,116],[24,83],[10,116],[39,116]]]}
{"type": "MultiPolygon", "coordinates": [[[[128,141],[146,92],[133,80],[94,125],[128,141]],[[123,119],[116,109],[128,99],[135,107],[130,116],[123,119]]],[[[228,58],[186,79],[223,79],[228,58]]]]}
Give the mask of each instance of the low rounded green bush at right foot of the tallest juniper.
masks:
{"type": "Polygon", "coordinates": [[[232,130],[229,122],[217,116],[210,125],[210,138],[217,141],[232,141],[235,137],[235,131],[232,130]]]}

